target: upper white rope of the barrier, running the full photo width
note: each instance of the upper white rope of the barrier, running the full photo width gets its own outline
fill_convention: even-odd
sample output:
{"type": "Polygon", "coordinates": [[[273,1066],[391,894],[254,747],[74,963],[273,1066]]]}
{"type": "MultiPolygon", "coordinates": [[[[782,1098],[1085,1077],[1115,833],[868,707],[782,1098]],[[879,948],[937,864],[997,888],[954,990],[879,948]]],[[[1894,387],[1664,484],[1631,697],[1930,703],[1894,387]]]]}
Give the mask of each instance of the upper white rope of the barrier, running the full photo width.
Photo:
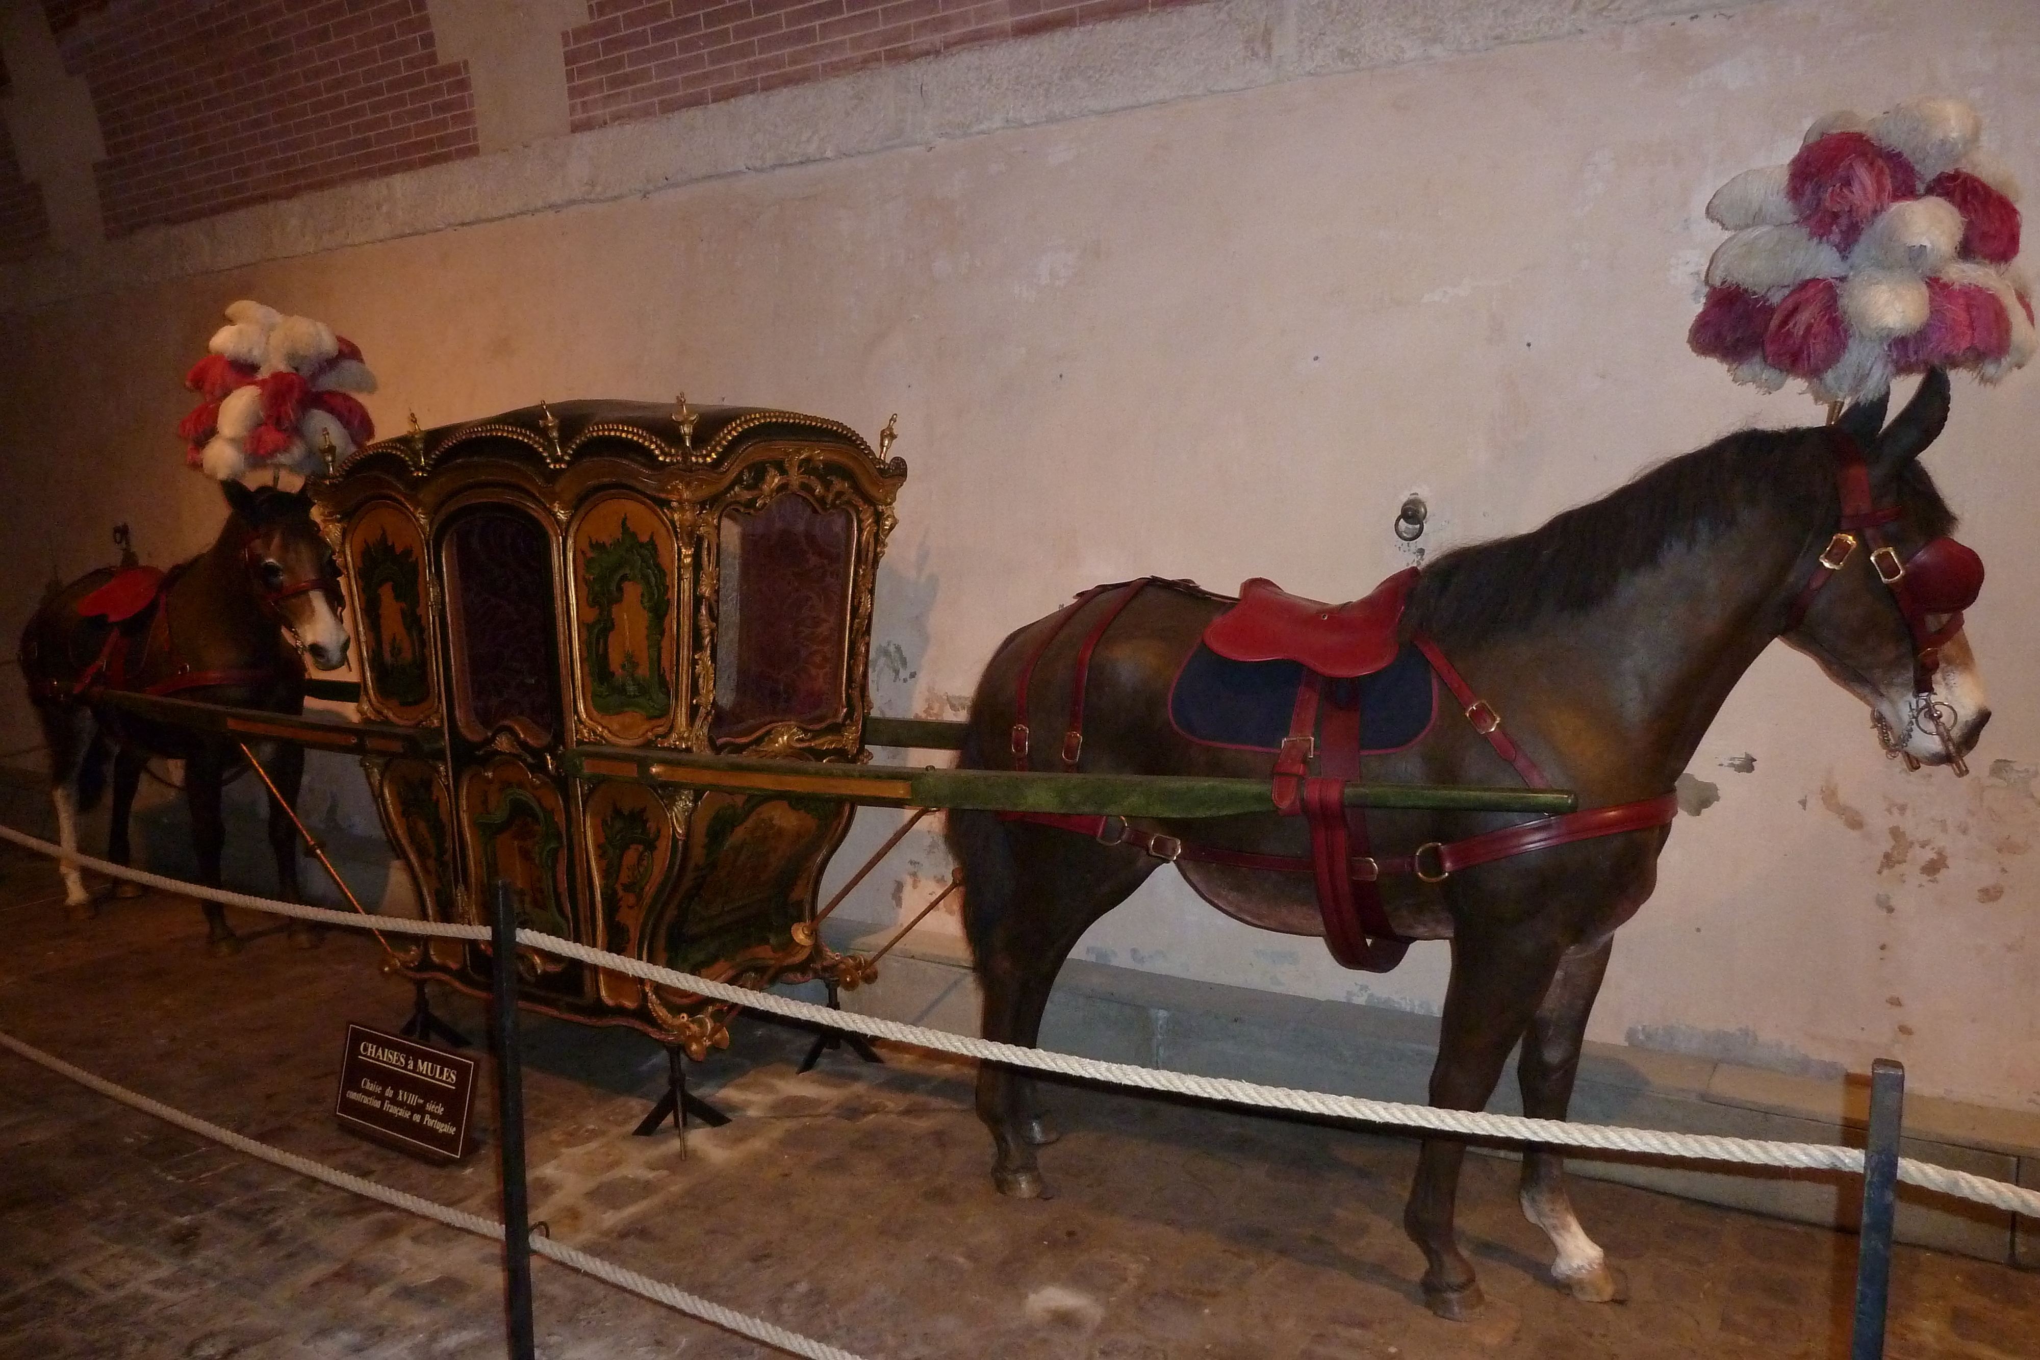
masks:
{"type": "MultiPolygon", "coordinates": [[[[61,854],[59,846],[53,846],[45,840],[35,840],[33,836],[22,836],[20,832],[4,826],[0,826],[0,840],[12,840],[14,844],[41,850],[43,854],[61,854]]],[[[73,854],[71,858],[98,873],[133,879],[137,883],[147,883],[151,887],[161,887],[163,891],[182,893],[188,897],[210,897],[212,901],[220,901],[231,907],[247,907],[251,911],[298,916],[304,920],[318,920],[335,926],[353,926],[353,928],[373,926],[375,930],[388,930],[394,934],[406,934],[406,932],[432,934],[432,936],[451,936],[463,940],[490,938],[490,932],[481,926],[451,926],[443,922],[418,922],[400,916],[361,918],[347,911],[300,907],[286,901],[249,897],[245,893],[206,889],[196,883],[145,875],[126,869],[122,865],[112,865],[108,860],[98,860],[86,854],[73,854]]],[[[1173,1095],[1189,1095],[1206,1101],[1228,1101],[1234,1105],[1255,1105],[1261,1109],[1287,1109],[1295,1113],[1322,1115],[1334,1119],[1355,1119],[1361,1123],[1412,1128],[1428,1134],[1455,1134],[1461,1138],[1499,1138],[1508,1142],[1528,1142],[1552,1148],[1587,1148],[1593,1152],[1634,1152],[1644,1156],[1673,1156],[1697,1162],[1734,1162],[1742,1166],[1785,1166],[1791,1170],[1840,1170],[1848,1174],[1863,1174],[1860,1148],[1842,1148],[1834,1144],[1803,1144],[1803,1142],[1765,1142],[1756,1138],[1724,1138],[1716,1134],[1667,1134],[1661,1130],[1634,1130],[1612,1123],[1569,1123],[1565,1119],[1532,1119],[1526,1115],[1491,1115],[1471,1109],[1438,1109],[1436,1105],[1406,1105],[1401,1101],[1375,1101],[1359,1095],[1330,1095],[1326,1091],[1265,1087],[1251,1081],[1236,1081],[1228,1077],[1197,1077],[1191,1073],[1171,1073],[1167,1068],[1134,1066],[1130,1062],[1104,1062],[1098,1058],[1081,1058],[1075,1054],[1063,1054],[1044,1048],[998,1044],[991,1040],[981,1040],[965,1034],[949,1034],[947,1030],[926,1030],[922,1026],[910,1026],[898,1019],[883,1019],[879,1015],[836,1011],[824,1005],[814,1005],[810,1001],[796,1001],[794,997],[783,997],[769,991],[753,991],[749,987],[732,987],[730,983],[718,983],[706,977],[696,977],[692,973],[675,973],[673,969],[661,969],[659,964],[645,962],[641,958],[624,958],[622,954],[610,954],[598,948],[590,948],[585,944],[577,944],[573,940],[547,936],[537,930],[518,930],[516,938],[518,944],[526,948],[545,950],[549,954],[559,954],[563,958],[575,958],[579,962],[588,962],[600,969],[610,969],[614,973],[624,973],[628,977],[645,979],[651,983],[663,983],[667,987],[702,995],[712,1001],[726,1001],[730,1005],[741,1005],[753,1011],[765,1011],[769,1015],[779,1015],[783,1019],[828,1026],[832,1030],[863,1034],[867,1038],[891,1040],[896,1044],[910,1044],[916,1048],[932,1048],[936,1052],[949,1052],[963,1058],[977,1058],[981,1062],[1004,1062],[1008,1066],[1053,1073],[1057,1077],[1079,1077],[1085,1081],[1104,1081],[1122,1087],[1134,1087],[1140,1091],[1169,1091],[1173,1095]]],[[[1946,1166],[1934,1166],[1932,1162],[1920,1162],[1914,1158],[1899,1158],[1899,1181],[1942,1195],[1973,1199],[1977,1203],[1985,1203],[1995,1209],[2007,1209],[2011,1213],[2040,1217],[2040,1191],[2005,1185],[2003,1181],[1989,1181],[1985,1176],[1950,1170],[1946,1166]]]]}

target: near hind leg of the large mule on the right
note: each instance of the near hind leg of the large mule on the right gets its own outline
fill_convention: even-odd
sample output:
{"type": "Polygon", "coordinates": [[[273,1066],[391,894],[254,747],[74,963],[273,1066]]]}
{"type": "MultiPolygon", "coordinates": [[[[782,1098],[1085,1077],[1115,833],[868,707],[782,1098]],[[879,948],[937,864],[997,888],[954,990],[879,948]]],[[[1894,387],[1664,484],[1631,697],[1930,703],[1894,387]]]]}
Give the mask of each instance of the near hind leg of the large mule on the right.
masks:
{"type": "MultiPolygon", "coordinates": [[[[989,814],[951,814],[965,869],[965,928],[983,991],[983,1036],[1032,1046],[1055,975],[1085,928],[1140,887],[1157,860],[1108,850],[1069,832],[1002,826],[989,814]]],[[[977,1117],[996,1146],[991,1183],[1002,1195],[1042,1193],[1034,1148],[1053,1140],[1032,1079],[983,1062],[977,1117]]]]}

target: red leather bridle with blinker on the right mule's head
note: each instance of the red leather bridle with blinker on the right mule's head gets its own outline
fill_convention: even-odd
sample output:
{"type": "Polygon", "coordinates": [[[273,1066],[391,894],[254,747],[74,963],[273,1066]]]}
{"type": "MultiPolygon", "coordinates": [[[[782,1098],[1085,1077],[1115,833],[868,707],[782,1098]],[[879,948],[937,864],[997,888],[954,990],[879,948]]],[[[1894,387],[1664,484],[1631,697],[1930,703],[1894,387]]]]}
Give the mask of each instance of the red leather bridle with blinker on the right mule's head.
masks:
{"type": "MultiPolygon", "coordinates": [[[[1977,604],[1977,595],[1983,591],[1983,559],[1973,548],[1942,534],[1901,561],[1883,532],[1885,524],[1901,514],[1897,502],[1877,506],[1871,498],[1871,473],[1863,459],[1863,447],[1844,430],[1830,426],[1828,434],[1834,440],[1834,481],[1842,500],[1842,518],[1828,546],[1814,561],[1814,573],[1793,597],[1783,632],[1791,632],[1805,620],[1820,587],[1848,565],[1858,544],[1869,542],[1871,569],[1891,591],[1914,640],[1914,693],[1918,695],[1914,724],[1932,724],[1940,744],[1948,750],[1948,767],[1956,775],[1967,775],[1969,767],[1962,765],[1962,754],[1954,748],[1954,734],[1940,712],[1944,705],[1934,699],[1934,675],[1940,671],[1940,648],[1962,630],[1962,610],[1977,604]],[[1938,626],[1932,624],[1934,616],[1940,616],[1938,626]]],[[[1871,722],[1877,726],[1877,740],[1887,756],[1903,756],[1909,767],[1920,765],[1905,752],[1905,738],[1891,732],[1883,714],[1871,710],[1871,722]]]]}

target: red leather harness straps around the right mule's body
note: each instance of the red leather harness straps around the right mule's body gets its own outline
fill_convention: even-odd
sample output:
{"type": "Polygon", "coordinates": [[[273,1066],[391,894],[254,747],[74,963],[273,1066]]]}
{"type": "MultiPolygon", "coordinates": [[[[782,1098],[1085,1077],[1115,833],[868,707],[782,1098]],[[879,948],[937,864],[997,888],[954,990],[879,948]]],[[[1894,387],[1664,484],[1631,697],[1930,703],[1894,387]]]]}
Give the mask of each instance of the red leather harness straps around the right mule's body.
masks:
{"type": "MultiPolygon", "coordinates": [[[[1399,573],[1397,577],[1385,581],[1383,587],[1369,599],[1381,599],[1383,604],[1391,601],[1393,614],[1399,614],[1401,597],[1408,593],[1414,579],[1414,569],[1399,573]]],[[[1077,665],[1071,677],[1071,714],[1063,736],[1065,769],[1075,769],[1077,756],[1083,750],[1083,689],[1091,655],[1098,650],[1098,644],[1104,640],[1104,634],[1114,620],[1118,620],[1126,606],[1132,604],[1134,595],[1151,583],[1157,583],[1155,577],[1118,581],[1112,585],[1098,585],[1077,595],[1075,601],[1065,606],[1055,616],[1053,624],[1030,648],[1016,681],[1018,722],[1014,724],[1012,742],[1016,769],[1026,769],[1026,695],[1034,677],[1034,667],[1040,663],[1040,657],[1049,650],[1049,646],[1053,646],[1069,624],[1075,622],[1085,606],[1100,595],[1120,591],[1118,599],[1112,599],[1098,612],[1098,618],[1091,622],[1077,648],[1077,665]]],[[[1167,581],[1167,585],[1183,587],[1187,583],[1167,581]]],[[[1355,606],[1346,608],[1350,610],[1355,606]]],[[[1334,612],[1330,606],[1320,606],[1320,610],[1322,616],[1330,616],[1334,612]]],[[[1393,616],[1387,618],[1387,626],[1393,628],[1393,616]]],[[[1210,638],[1210,634],[1206,636],[1210,638]]],[[[1524,783],[1534,789],[1548,789],[1550,781],[1544,773],[1528,754],[1524,754],[1520,746],[1516,746],[1508,732],[1503,732],[1501,716],[1493,710],[1493,705],[1473,693],[1473,687],[1467,685],[1459,669],[1446,661],[1436,640],[1418,634],[1414,642],[1422,648],[1426,661],[1430,661],[1432,669],[1438,673],[1438,679],[1442,679],[1446,689],[1450,689],[1459,699],[1467,722],[1471,722],[1473,728],[1487,738],[1495,752],[1524,777],[1524,783]]],[[[1393,648],[1387,650],[1387,657],[1393,659],[1393,648]]],[[[1381,905],[1381,891],[1377,885],[1385,875],[1410,873],[1426,883],[1442,883],[1461,869],[1473,869],[1475,865],[1487,865],[1512,854],[1544,850],[1593,836],[1616,836],[1620,832],[1665,826],[1679,814],[1677,795],[1665,793],[1661,797],[1620,803],[1614,807],[1591,807],[1585,812],[1538,818],[1522,826],[1510,826],[1469,836],[1465,840],[1434,840],[1418,846],[1412,854],[1377,856],[1369,846],[1365,812],[1357,807],[1348,809],[1344,805],[1346,783],[1359,777],[1361,712],[1357,705],[1326,703],[1324,681],[1326,675],[1306,669],[1306,679],[1297,687],[1295,710],[1289,720],[1289,736],[1283,740],[1275,759],[1271,785],[1275,809],[1285,816],[1302,816],[1310,824],[1310,856],[1253,854],[1244,850],[1220,850],[1214,846],[1189,844],[1177,836],[1140,830],[1130,826],[1126,818],[1118,816],[1051,812],[1002,812],[998,816],[1008,822],[1032,822],[1036,826],[1055,826],[1079,832],[1095,838],[1100,844],[1134,846],[1136,850],[1144,850],[1169,862],[1193,860],[1269,873],[1310,873],[1316,877],[1318,909],[1324,916],[1324,938],[1332,956],[1348,969],[1385,973],[1401,962],[1404,952],[1410,948],[1410,940],[1395,934],[1395,928],[1381,905]],[[1318,765],[1316,773],[1310,769],[1312,763],[1318,765]]]]}

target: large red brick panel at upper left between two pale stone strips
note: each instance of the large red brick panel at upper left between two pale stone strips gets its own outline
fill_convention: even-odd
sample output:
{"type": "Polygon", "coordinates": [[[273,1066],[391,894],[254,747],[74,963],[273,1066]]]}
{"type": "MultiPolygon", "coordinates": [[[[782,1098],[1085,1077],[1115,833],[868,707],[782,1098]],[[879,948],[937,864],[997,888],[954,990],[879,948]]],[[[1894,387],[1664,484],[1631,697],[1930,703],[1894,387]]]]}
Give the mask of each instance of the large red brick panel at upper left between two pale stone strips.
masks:
{"type": "Polygon", "coordinates": [[[477,153],[424,0],[49,0],[92,90],[106,234],[477,153]]]}

